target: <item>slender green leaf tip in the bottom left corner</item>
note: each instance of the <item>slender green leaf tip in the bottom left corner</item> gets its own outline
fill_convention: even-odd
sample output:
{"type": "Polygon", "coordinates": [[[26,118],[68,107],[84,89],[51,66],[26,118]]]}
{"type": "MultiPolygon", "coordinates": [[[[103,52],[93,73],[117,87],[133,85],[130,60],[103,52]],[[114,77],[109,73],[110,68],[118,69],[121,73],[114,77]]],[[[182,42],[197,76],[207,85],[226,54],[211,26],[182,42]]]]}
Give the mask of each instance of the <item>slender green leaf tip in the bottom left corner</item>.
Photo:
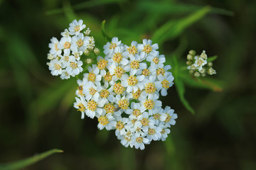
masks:
{"type": "Polygon", "coordinates": [[[36,156],[29,157],[27,159],[23,159],[23,160],[18,161],[18,162],[11,162],[9,164],[0,164],[0,170],[22,169],[26,166],[29,166],[31,164],[35,164],[36,162],[39,162],[42,159],[45,159],[46,157],[49,157],[51,154],[60,153],[60,152],[63,152],[63,150],[51,149],[47,152],[37,154],[36,156]]]}

